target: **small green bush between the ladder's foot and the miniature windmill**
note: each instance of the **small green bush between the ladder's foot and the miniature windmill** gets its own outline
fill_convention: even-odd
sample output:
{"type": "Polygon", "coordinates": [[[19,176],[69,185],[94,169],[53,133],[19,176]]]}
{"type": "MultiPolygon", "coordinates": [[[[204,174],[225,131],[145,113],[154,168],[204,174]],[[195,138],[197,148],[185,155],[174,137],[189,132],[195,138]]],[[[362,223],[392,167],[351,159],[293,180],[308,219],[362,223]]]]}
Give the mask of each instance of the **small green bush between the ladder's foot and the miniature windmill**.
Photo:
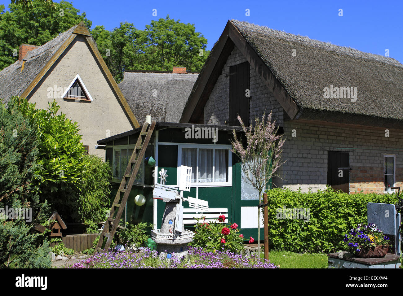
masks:
{"type": "Polygon", "coordinates": [[[139,223],[134,225],[126,222],[126,228],[119,230],[119,243],[123,245],[130,243],[130,246],[139,248],[150,238],[151,228],[152,224],[139,223]]]}

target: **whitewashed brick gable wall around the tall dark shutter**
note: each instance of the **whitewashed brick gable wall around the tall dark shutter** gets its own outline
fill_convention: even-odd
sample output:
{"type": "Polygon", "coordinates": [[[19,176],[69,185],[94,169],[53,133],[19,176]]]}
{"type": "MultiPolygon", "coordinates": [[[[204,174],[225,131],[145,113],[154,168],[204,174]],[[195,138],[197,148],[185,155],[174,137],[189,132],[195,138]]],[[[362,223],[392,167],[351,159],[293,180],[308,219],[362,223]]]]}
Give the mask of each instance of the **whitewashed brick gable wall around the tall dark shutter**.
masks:
{"type": "MultiPolygon", "coordinates": [[[[221,75],[210,94],[204,107],[205,124],[225,124],[229,117],[229,67],[246,62],[246,58],[237,47],[233,49],[228,57],[221,75]]],[[[250,98],[249,98],[249,119],[254,120],[256,116],[261,117],[273,111],[273,118],[277,123],[283,124],[283,108],[274,97],[270,89],[264,84],[258,73],[250,69],[250,98]]],[[[245,97],[246,99],[246,97],[245,97]]]]}

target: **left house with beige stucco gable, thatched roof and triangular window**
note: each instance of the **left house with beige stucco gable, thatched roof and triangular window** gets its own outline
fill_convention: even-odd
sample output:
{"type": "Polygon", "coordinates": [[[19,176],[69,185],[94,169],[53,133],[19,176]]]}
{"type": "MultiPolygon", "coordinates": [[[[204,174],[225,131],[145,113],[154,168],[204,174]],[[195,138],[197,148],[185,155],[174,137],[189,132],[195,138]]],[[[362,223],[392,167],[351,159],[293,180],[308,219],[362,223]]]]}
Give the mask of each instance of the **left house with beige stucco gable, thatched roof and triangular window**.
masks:
{"type": "Polygon", "coordinates": [[[0,71],[0,98],[13,95],[41,109],[56,99],[91,154],[103,156],[95,145],[106,134],[139,126],[83,22],[42,46],[20,46],[19,60],[0,71]]]}

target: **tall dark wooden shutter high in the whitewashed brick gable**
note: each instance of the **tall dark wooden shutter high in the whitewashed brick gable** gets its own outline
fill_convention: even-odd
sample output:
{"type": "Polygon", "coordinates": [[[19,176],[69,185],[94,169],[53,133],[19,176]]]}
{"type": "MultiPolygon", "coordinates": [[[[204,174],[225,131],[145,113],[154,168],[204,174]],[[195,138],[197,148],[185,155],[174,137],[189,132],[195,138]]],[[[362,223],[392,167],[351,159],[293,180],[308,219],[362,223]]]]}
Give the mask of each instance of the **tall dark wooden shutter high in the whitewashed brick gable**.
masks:
{"type": "Polygon", "coordinates": [[[245,96],[250,86],[249,62],[229,67],[229,125],[239,126],[237,116],[249,126],[249,97],[245,96]]]}

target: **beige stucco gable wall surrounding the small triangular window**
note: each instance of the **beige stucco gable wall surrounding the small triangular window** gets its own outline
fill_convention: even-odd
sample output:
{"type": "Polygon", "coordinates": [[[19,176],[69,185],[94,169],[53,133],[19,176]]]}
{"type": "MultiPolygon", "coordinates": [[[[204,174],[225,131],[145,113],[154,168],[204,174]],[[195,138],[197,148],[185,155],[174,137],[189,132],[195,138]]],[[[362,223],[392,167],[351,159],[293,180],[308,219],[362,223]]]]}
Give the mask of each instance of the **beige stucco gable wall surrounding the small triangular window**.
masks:
{"type": "Polygon", "coordinates": [[[77,74],[93,101],[88,103],[58,97],[59,112],[79,123],[83,144],[89,145],[89,153],[104,158],[105,150],[96,150],[96,141],[131,130],[132,126],[82,36],[77,36],[60,56],[48,75],[33,90],[29,102],[36,103],[38,108],[48,108],[48,102],[54,97],[52,91],[55,86],[56,89],[65,89],[77,74]]]}

